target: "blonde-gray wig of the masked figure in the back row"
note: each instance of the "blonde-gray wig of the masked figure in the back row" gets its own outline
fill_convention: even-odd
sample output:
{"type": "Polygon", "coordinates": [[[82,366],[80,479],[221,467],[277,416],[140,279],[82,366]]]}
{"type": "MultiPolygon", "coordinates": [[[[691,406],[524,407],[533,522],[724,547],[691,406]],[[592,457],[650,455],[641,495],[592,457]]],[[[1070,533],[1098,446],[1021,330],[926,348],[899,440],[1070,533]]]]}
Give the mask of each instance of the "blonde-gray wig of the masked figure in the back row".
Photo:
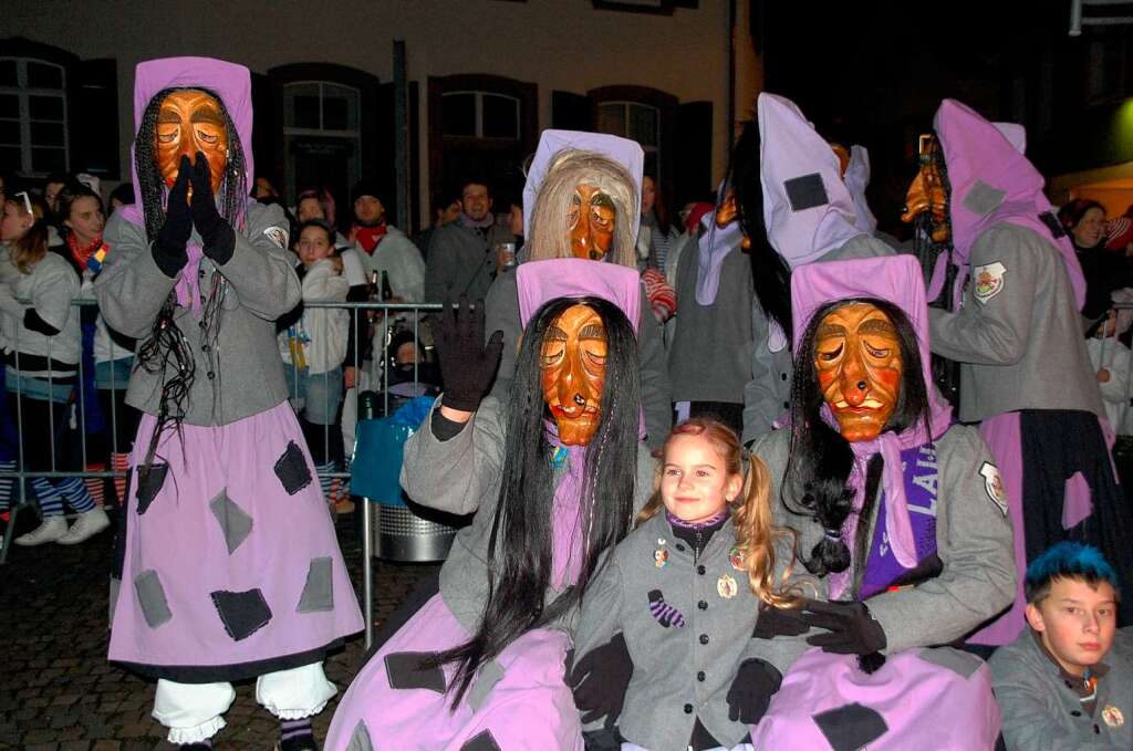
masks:
{"type": "Polygon", "coordinates": [[[578,148],[564,148],[551,157],[528,228],[531,261],[573,257],[569,216],[579,185],[595,187],[613,199],[617,221],[607,256],[616,264],[636,268],[633,219],[640,211],[640,190],[624,167],[597,152],[578,148]]]}

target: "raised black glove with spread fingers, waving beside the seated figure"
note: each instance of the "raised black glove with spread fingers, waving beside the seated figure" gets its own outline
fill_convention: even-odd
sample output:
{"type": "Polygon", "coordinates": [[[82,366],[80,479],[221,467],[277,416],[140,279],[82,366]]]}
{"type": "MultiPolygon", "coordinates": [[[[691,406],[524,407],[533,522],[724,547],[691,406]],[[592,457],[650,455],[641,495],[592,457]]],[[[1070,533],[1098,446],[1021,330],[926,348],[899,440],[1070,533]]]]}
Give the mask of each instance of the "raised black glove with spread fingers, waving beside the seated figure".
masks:
{"type": "Polygon", "coordinates": [[[475,313],[465,295],[460,296],[458,313],[452,310],[452,300],[445,300],[435,345],[444,381],[441,403],[475,412],[492,385],[503,352],[502,331],[492,334],[487,345],[484,344],[484,300],[477,301],[475,313]]]}

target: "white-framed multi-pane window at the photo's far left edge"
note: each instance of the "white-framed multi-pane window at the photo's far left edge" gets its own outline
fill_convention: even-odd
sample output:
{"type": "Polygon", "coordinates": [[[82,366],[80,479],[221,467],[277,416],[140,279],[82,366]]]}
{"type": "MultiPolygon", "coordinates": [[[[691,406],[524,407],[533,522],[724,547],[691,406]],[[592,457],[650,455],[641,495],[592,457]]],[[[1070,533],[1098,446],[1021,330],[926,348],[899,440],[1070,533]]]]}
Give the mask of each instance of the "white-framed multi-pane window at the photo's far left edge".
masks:
{"type": "Polygon", "coordinates": [[[32,58],[0,58],[0,170],[29,177],[70,168],[67,74],[32,58]]]}

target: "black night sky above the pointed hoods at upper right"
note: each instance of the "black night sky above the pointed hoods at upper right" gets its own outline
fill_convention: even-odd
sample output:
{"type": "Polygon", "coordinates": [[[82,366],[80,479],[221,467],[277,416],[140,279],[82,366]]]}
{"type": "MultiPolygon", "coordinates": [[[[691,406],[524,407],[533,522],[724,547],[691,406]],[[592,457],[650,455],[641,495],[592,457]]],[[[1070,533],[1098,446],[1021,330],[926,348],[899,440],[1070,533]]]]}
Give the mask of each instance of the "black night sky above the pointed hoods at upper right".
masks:
{"type": "Polygon", "coordinates": [[[1038,133],[1038,108],[1059,106],[1059,99],[1041,101],[1045,51],[1055,66],[1047,91],[1056,97],[1059,80],[1081,76],[1081,40],[1066,34],[1068,2],[840,5],[835,14],[816,3],[756,2],[765,87],[794,100],[828,140],[869,148],[870,203],[883,229],[900,230],[917,135],[931,128],[944,97],[989,119],[1021,119],[1042,169],[1036,155],[1054,134],[1038,133]]]}

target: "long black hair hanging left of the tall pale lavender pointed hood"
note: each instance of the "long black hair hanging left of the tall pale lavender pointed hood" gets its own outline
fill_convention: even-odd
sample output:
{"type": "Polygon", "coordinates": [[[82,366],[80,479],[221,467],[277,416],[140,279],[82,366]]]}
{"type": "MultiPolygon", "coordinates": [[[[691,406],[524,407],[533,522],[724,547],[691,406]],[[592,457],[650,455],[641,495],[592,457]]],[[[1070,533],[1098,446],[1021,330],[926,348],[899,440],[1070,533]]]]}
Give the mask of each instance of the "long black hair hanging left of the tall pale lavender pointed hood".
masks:
{"type": "Polygon", "coordinates": [[[743,127],[732,148],[729,184],[735,191],[740,227],[750,242],[751,278],[756,299],[769,321],[774,321],[791,341],[791,267],[767,239],[764,223],[764,187],[759,181],[759,122],[743,127]]]}

